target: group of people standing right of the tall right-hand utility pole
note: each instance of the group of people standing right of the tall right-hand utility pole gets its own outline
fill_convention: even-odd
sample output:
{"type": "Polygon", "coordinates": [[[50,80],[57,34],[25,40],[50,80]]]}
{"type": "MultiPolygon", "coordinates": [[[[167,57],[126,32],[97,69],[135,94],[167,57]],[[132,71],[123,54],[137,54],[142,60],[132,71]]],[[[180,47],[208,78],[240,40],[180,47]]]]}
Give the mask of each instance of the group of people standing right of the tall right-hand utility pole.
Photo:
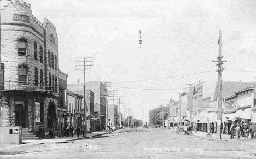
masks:
{"type": "Polygon", "coordinates": [[[256,125],[253,122],[251,122],[249,126],[243,121],[241,123],[236,123],[236,125],[235,122],[232,122],[229,132],[230,139],[234,139],[235,134],[238,140],[240,139],[240,137],[248,139],[249,134],[251,136],[251,139],[253,139],[255,138],[256,125]]]}

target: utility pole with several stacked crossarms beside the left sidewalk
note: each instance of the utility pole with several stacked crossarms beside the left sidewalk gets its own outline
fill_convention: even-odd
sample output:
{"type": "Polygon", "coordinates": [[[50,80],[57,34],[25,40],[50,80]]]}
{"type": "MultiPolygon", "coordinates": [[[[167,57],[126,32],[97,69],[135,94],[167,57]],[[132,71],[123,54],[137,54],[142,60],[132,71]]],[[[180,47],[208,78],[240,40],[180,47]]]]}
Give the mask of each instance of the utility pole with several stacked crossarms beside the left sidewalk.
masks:
{"type": "Polygon", "coordinates": [[[81,58],[76,58],[77,60],[83,60],[83,61],[75,61],[77,63],[83,63],[83,64],[78,64],[75,67],[83,67],[83,68],[77,68],[76,70],[83,70],[84,71],[84,120],[83,120],[83,125],[84,125],[84,134],[83,136],[86,138],[87,137],[87,106],[86,106],[86,99],[85,99],[85,73],[86,70],[92,69],[92,68],[86,68],[86,66],[93,66],[92,61],[87,61],[87,59],[92,58],[92,57],[81,57],[81,58]],[[87,64],[89,63],[89,64],[87,64]]]}

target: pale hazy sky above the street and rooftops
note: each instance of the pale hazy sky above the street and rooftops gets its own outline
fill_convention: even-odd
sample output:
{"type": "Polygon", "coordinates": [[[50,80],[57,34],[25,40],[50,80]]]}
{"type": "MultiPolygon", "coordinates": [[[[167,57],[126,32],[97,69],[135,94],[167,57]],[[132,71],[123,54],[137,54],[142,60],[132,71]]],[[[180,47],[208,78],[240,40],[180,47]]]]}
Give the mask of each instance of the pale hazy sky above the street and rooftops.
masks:
{"type": "Polygon", "coordinates": [[[25,2],[37,19],[47,17],[56,26],[59,68],[68,83],[83,81],[75,58],[92,57],[86,81],[112,82],[137,119],[148,121],[150,109],[178,99],[186,84],[217,80],[212,60],[220,28],[223,80],[255,81],[256,1],[25,2]]]}

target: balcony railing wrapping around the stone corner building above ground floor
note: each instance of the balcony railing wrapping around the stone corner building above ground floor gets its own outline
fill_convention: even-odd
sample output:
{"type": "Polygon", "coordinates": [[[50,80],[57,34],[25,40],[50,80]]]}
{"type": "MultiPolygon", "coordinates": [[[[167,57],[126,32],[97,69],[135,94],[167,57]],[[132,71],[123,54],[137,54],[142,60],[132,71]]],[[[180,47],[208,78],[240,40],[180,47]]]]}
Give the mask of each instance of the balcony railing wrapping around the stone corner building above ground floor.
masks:
{"type": "Polygon", "coordinates": [[[23,90],[23,91],[39,91],[55,94],[57,86],[45,86],[40,83],[20,82],[20,81],[1,81],[2,90],[23,90]]]}

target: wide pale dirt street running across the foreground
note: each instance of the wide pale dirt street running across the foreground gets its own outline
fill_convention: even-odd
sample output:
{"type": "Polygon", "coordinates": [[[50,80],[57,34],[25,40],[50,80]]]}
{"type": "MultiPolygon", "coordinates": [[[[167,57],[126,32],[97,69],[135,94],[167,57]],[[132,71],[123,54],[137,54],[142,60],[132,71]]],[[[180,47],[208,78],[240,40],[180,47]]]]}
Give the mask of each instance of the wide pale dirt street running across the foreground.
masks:
{"type": "MultiPolygon", "coordinates": [[[[43,141],[43,140],[42,140],[43,141]]],[[[65,143],[1,146],[0,158],[255,158],[256,140],[205,140],[160,129],[65,143]],[[255,154],[255,155],[253,155],[255,154]]]]}

